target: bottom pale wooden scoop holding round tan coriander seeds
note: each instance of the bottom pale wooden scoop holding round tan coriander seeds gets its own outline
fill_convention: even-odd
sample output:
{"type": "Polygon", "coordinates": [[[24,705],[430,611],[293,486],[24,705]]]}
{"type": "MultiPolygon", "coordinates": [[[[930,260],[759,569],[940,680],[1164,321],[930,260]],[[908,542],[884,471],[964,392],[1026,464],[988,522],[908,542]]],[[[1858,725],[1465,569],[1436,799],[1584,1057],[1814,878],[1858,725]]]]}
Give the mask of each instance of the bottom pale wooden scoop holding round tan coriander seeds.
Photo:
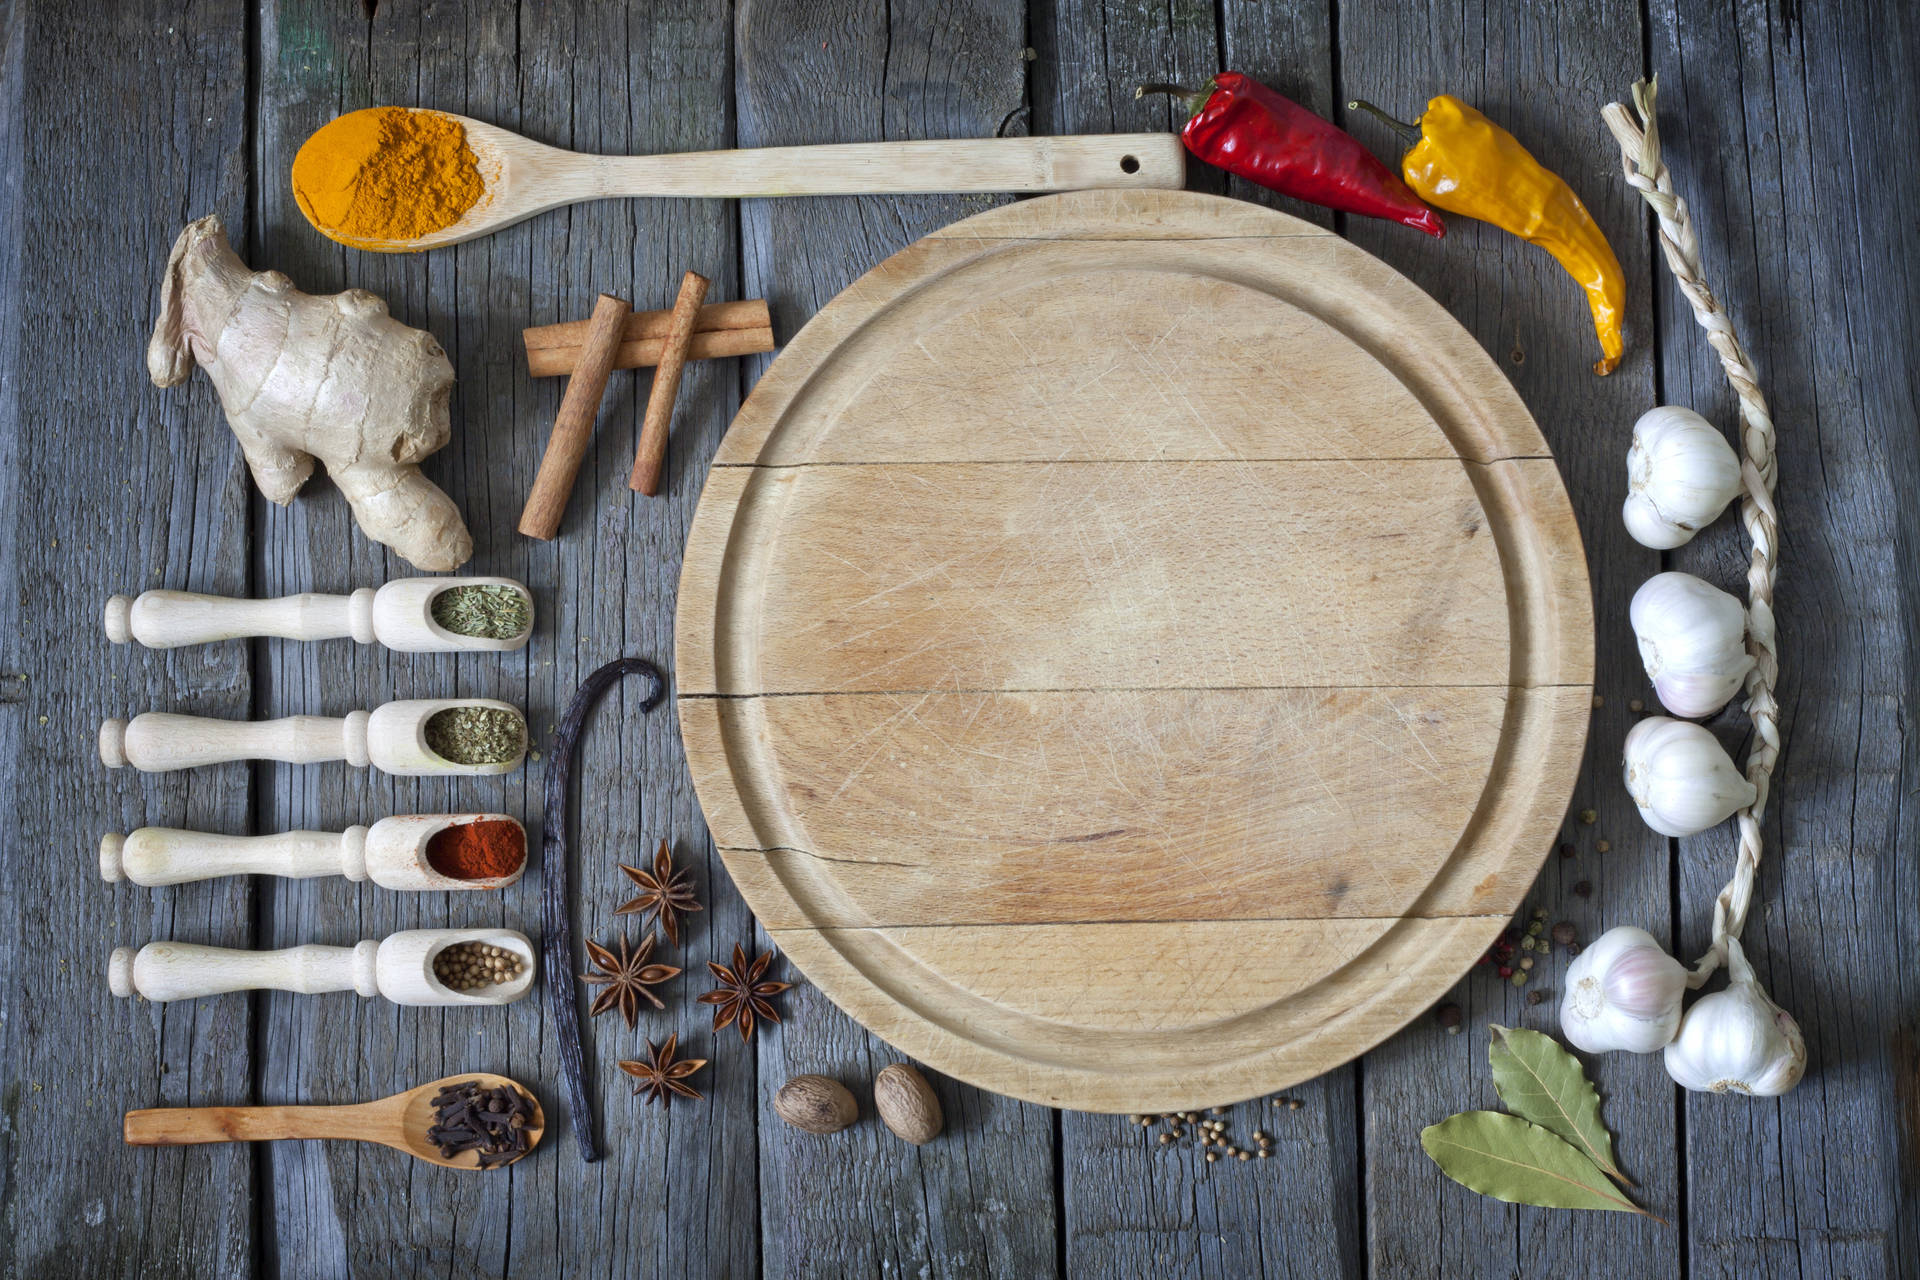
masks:
{"type": "Polygon", "coordinates": [[[290,946],[244,952],[194,942],[117,946],[108,958],[108,988],[148,1000],[198,1000],[230,990],[351,990],[394,1004],[513,1004],[534,986],[534,944],[513,929],[409,929],[355,946],[290,946]],[[434,975],[434,956],[461,942],[499,946],[520,958],[505,983],[453,990],[434,975]]]}

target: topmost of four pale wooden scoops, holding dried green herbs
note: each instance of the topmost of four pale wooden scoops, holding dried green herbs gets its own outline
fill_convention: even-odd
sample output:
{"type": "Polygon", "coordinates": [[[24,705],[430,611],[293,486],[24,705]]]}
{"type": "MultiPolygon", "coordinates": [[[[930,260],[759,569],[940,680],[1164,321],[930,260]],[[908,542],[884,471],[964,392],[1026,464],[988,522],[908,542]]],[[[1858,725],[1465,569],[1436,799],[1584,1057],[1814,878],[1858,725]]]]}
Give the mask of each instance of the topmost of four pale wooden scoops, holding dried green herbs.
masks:
{"type": "Polygon", "coordinates": [[[315,641],[351,635],[401,652],[503,652],[524,649],[534,633],[534,595],[513,578],[399,578],[380,589],[351,595],[282,595],[275,601],[240,601],[198,591],[142,591],[136,599],[108,601],[108,639],[140,641],[148,649],[207,645],[242,635],[278,635],[315,641]],[[434,597],[451,587],[509,587],[526,597],[526,629],[507,639],[459,635],[434,622],[434,597]]]}

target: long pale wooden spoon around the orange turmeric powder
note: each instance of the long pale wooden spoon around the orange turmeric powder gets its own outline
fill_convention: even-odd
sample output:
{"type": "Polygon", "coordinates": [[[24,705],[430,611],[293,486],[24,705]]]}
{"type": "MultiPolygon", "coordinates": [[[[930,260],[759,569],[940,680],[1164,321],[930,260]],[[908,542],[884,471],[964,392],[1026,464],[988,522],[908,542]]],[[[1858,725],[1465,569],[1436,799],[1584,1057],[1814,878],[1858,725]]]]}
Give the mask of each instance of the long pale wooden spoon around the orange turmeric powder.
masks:
{"type": "Polygon", "coordinates": [[[620,196],[1073,192],[1094,186],[1179,188],[1187,182],[1187,152],[1171,132],[582,155],[453,111],[434,115],[467,129],[467,146],[486,182],[486,194],[461,221],[419,240],[361,240],[321,226],[301,203],[313,228],[357,249],[413,253],[488,236],[561,205],[620,196]]]}

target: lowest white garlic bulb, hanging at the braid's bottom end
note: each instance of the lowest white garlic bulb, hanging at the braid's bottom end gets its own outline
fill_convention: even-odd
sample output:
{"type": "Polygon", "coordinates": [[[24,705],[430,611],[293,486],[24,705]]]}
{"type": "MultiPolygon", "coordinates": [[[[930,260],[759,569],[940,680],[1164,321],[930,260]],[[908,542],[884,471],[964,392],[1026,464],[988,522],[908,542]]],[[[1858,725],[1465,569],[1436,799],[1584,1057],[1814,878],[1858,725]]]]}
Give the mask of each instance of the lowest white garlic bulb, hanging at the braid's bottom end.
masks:
{"type": "Polygon", "coordinates": [[[1807,1040],[1753,977],[1740,938],[1726,940],[1726,990],[1701,996],[1667,1046],[1667,1075],[1699,1094],[1772,1098],[1799,1084],[1807,1040]]]}

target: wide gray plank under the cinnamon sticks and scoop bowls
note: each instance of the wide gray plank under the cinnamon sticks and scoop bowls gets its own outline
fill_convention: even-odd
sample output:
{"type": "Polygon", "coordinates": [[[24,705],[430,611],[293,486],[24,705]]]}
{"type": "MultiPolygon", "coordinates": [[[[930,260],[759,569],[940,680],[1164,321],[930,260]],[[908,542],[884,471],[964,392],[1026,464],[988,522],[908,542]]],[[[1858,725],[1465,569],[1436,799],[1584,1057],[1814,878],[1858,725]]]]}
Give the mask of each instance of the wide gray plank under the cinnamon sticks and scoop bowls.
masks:
{"type": "MultiPolygon", "coordinates": [[[[540,620],[524,654],[397,656],[351,647],[286,647],[273,656],[273,697],[286,708],[351,706],[386,697],[476,693],[528,708],[536,748],[578,681],[620,654],[666,670],[680,547],[705,462],[737,405],[737,370],[695,365],[680,391],[668,491],[626,489],[645,374],[620,374],[574,487],[561,537],[534,545],[515,532],[559,380],[532,382],[518,330],[588,313],[597,292],[636,307],[668,305],[684,269],[739,296],[730,207],[701,201],[603,203],[557,211],[497,236],[420,257],[338,249],[286,198],[286,167],[311,129],[340,109],[378,102],[444,106],[578,150],[649,152],[728,146],[728,15],[712,6],[570,4],[520,8],[382,4],[371,23],[353,6],[288,4],[263,19],[263,200],[276,265],[307,288],[359,284],[396,315],[434,330],[455,359],[455,443],[428,474],[461,503],[474,532],[474,572],[532,585],[540,620]]],[[[273,512],[263,578],[275,589],[336,587],[405,574],[349,524],[323,487],[273,512]]],[[[480,1274],[747,1274],[756,1268],[753,1055],[714,1042],[693,996],[705,961],[747,933],[747,917],[710,858],[672,710],[637,712],[637,687],[607,699],[591,722],[578,777],[576,931],[611,940],[612,908],[632,896],[620,862],[670,837],[691,860],[708,912],[672,952],[687,969],[670,1007],[637,1032],[616,1019],[586,1025],[589,1079],[607,1159],[584,1165],[566,1123],[549,1150],[507,1176],[442,1178],[386,1153],[309,1144],[271,1153],[276,1265],[317,1274],[442,1274],[449,1261],[480,1274]],[[614,1069],[641,1038],[680,1031],[689,1055],[714,1065],[705,1103],[643,1107],[614,1069]],[[394,1197],[407,1188],[411,1197],[394,1197]],[[411,1201],[411,1203],[409,1203],[411,1201]],[[397,1242],[397,1247],[396,1247],[397,1242]]],[[[275,825],[332,825],[390,812],[499,808],[540,829],[543,760],[501,781],[407,783],[332,770],[280,770],[275,825]]],[[[280,940],[380,936],[442,923],[507,923],[538,933],[538,875],[503,898],[409,898],[372,887],[288,885],[273,898],[280,940]]],[[[632,921],[618,921],[632,927],[632,921]]],[[[637,938],[637,935],[636,935],[637,938]]],[[[578,942],[576,942],[578,946],[578,942]]],[[[662,956],[664,958],[664,956],[662,956]]],[[[269,1002],[265,1090],[276,1098],[384,1094],[459,1069],[495,1069],[534,1084],[563,1121],[543,1002],[505,1011],[390,1009],[351,1000],[269,1002]]]]}

